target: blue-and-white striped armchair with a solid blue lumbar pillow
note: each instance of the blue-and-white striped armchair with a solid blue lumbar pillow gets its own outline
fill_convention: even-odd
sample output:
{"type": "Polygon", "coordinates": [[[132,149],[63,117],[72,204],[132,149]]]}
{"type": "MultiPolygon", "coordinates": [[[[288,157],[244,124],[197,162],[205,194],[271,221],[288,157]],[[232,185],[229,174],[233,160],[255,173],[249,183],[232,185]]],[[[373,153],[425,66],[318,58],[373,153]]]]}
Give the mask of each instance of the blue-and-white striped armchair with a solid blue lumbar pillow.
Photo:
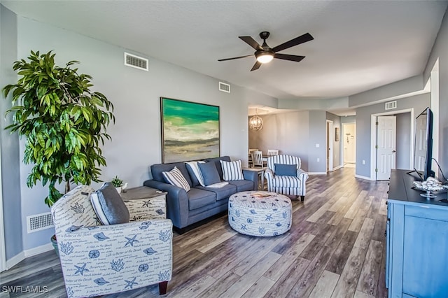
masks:
{"type": "Polygon", "coordinates": [[[300,196],[304,201],[308,173],[300,169],[300,157],[293,155],[274,155],[267,158],[267,169],[265,178],[267,180],[267,191],[279,194],[290,194],[300,196]],[[278,165],[295,165],[294,173],[290,175],[276,174],[276,164],[278,165]]]}

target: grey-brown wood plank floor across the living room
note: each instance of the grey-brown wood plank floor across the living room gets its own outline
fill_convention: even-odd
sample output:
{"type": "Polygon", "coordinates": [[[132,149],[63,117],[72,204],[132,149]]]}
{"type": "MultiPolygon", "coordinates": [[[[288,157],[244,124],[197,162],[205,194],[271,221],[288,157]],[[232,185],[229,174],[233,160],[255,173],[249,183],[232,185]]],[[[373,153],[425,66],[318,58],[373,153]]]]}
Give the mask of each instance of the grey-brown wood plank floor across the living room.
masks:
{"type": "MultiPolygon", "coordinates": [[[[384,285],[387,182],[354,178],[353,168],[310,176],[293,200],[286,234],[238,234],[227,216],[174,234],[173,278],[163,297],[387,297],[384,285]]],[[[0,298],[66,297],[54,252],[0,274],[0,298]],[[4,293],[6,285],[48,293],[4,293]]],[[[107,297],[159,297],[153,285],[107,297]]]]}

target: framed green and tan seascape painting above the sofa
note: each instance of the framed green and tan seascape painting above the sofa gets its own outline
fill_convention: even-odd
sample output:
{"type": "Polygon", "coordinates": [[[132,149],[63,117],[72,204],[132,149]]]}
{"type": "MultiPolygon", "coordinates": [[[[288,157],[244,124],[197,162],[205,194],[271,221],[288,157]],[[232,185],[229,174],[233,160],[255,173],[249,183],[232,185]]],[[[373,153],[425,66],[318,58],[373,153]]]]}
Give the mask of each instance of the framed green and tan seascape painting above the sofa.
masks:
{"type": "Polygon", "coordinates": [[[219,157],[219,107],[160,97],[162,162],[219,157]]]}

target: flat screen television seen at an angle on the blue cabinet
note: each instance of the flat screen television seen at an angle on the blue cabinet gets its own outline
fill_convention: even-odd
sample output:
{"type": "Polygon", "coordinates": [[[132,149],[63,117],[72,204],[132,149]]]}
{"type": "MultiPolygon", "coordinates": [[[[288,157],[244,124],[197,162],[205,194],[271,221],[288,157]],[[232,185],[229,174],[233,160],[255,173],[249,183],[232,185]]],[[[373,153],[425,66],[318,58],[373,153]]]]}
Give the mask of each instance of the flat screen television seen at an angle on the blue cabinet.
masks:
{"type": "Polygon", "coordinates": [[[415,118],[414,139],[414,171],[418,173],[421,180],[434,176],[431,170],[433,159],[433,112],[425,108],[415,118]]]}

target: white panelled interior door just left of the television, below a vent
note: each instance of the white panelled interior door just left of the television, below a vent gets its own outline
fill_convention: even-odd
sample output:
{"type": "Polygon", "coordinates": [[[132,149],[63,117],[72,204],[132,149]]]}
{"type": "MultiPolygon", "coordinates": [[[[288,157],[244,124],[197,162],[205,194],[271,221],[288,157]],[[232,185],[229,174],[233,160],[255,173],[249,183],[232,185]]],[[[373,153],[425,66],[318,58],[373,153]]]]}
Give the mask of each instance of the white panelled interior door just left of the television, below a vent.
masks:
{"type": "Polygon", "coordinates": [[[377,180],[388,180],[395,169],[396,134],[395,116],[377,117],[377,180]]]}

